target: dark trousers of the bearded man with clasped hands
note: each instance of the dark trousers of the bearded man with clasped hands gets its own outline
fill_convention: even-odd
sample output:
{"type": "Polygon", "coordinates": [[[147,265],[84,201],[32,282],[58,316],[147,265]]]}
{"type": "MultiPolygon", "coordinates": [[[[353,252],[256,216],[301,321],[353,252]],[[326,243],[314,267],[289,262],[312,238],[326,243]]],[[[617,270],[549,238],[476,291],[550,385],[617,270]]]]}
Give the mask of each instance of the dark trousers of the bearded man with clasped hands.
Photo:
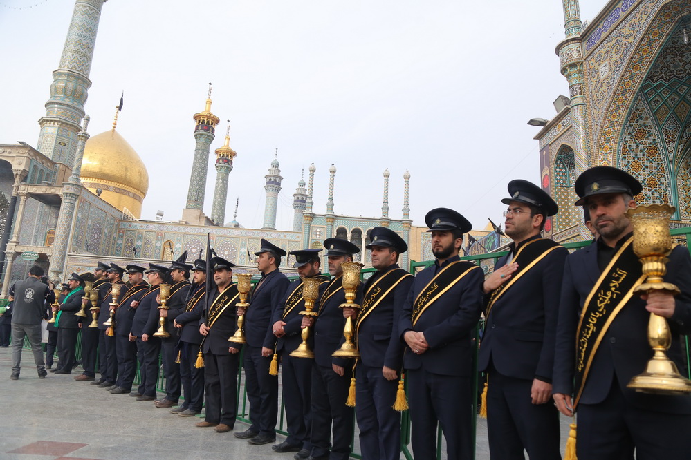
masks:
{"type": "Polygon", "coordinates": [[[472,460],[472,383],[470,377],[407,371],[411,441],[416,459],[436,459],[436,427],[446,439],[448,460],[472,460]]]}

